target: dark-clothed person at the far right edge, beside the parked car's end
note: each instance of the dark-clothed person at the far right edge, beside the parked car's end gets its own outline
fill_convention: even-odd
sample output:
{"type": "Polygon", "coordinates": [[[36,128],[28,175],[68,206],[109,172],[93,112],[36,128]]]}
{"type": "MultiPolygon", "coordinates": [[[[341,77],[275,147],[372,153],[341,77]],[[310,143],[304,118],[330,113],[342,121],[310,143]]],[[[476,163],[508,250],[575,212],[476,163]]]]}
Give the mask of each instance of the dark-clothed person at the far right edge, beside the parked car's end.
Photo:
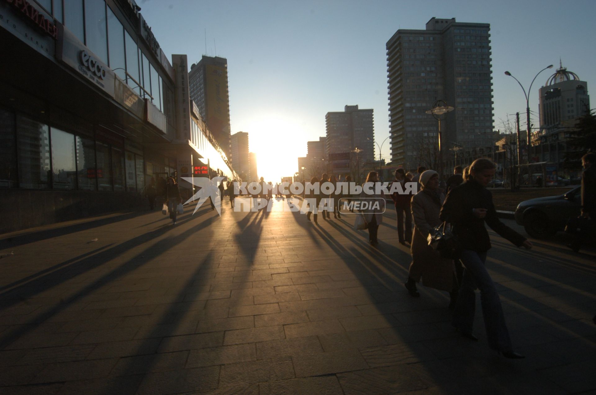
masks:
{"type": "MultiPolygon", "coordinates": [[[[595,232],[596,225],[596,153],[588,152],[582,156],[582,189],[581,189],[581,213],[580,216],[585,218],[585,227],[583,227],[572,243],[567,244],[573,251],[579,252],[589,237],[595,232]]],[[[592,240],[594,238],[592,237],[592,240]]]]}

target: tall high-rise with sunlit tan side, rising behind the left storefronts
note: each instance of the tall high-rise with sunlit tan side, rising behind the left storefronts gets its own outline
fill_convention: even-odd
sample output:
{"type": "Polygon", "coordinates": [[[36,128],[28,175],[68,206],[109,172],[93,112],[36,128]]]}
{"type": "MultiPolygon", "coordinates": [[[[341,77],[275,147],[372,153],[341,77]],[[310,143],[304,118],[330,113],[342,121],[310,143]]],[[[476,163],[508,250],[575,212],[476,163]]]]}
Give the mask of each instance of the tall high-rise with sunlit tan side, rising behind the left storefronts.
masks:
{"type": "Polygon", "coordinates": [[[203,55],[198,63],[191,65],[188,90],[213,137],[231,159],[228,60],[203,55]]]}

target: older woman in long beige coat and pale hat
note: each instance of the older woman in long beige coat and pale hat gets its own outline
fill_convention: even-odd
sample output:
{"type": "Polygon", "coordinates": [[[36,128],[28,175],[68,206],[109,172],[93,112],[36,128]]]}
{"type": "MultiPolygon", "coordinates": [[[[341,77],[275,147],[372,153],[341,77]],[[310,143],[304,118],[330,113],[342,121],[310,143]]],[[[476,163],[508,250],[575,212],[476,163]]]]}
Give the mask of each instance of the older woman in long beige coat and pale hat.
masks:
{"type": "Polygon", "coordinates": [[[420,296],[416,283],[422,277],[424,286],[451,294],[449,308],[452,309],[455,307],[458,288],[454,263],[452,259],[442,258],[427,242],[430,231],[443,222],[439,219],[439,212],[445,194],[439,188],[439,174],[434,170],[424,171],[420,175],[420,184],[422,189],[412,196],[411,202],[414,235],[411,246],[412,263],[405,286],[411,296],[420,296]]]}

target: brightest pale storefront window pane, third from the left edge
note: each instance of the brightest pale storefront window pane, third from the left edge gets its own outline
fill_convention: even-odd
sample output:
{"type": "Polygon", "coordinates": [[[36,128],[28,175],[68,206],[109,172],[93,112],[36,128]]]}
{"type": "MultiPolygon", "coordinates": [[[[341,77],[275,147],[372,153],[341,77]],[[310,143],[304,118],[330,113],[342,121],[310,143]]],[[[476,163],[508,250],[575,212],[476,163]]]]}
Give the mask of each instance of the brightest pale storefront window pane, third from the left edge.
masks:
{"type": "Polygon", "coordinates": [[[75,135],[52,127],[50,136],[54,189],[76,189],[75,135]]]}

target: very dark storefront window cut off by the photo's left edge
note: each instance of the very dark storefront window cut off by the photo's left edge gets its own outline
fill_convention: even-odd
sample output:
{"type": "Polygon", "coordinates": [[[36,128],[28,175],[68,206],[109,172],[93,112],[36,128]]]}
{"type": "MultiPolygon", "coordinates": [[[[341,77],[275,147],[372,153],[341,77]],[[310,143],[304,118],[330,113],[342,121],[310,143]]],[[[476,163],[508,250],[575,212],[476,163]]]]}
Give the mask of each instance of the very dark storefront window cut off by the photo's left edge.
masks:
{"type": "Polygon", "coordinates": [[[17,186],[14,113],[0,108],[0,188],[17,186]]]}

